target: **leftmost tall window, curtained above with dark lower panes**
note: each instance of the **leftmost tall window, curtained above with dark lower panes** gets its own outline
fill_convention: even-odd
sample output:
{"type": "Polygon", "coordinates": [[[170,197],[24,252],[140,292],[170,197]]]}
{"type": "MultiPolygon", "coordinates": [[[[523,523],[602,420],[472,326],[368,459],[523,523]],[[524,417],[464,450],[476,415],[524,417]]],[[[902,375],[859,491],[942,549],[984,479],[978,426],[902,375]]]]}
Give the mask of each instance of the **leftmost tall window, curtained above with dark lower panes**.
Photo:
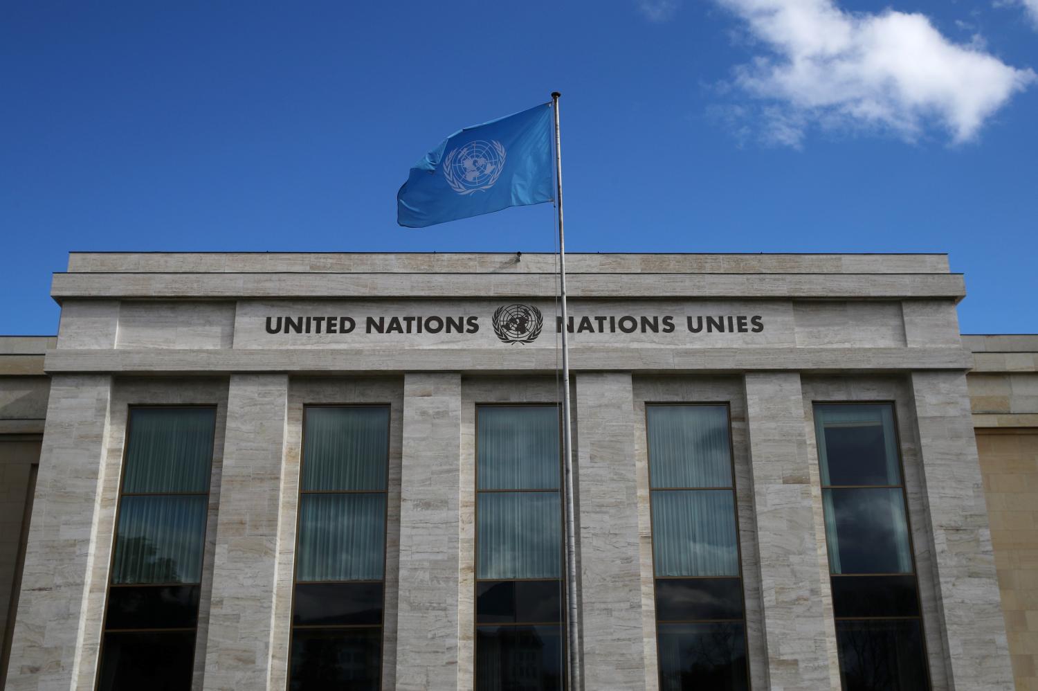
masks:
{"type": "Polygon", "coordinates": [[[191,688],[215,421],[212,407],[130,408],[101,691],[191,688]]]}

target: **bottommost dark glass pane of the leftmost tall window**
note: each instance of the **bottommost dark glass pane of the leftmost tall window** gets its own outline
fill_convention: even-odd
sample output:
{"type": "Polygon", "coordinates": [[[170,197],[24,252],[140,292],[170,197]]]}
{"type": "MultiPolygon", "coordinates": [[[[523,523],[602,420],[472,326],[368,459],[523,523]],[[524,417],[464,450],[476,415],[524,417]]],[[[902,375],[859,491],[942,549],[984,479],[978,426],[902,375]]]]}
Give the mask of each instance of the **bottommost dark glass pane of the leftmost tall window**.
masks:
{"type": "Polygon", "coordinates": [[[99,691],[189,691],[195,632],[105,634],[99,691]]]}

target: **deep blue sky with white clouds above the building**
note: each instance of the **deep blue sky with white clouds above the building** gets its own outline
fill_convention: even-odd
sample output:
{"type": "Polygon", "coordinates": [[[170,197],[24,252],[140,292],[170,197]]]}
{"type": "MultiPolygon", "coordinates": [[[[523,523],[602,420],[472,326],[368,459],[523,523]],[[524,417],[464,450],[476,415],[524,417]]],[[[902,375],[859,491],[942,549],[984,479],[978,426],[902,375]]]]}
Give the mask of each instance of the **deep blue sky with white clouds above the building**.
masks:
{"type": "Polygon", "coordinates": [[[553,89],[572,251],[947,251],[964,333],[1038,331],[1031,70],[1038,0],[8,0],[0,333],[69,250],[550,251],[394,195],[553,89]]]}

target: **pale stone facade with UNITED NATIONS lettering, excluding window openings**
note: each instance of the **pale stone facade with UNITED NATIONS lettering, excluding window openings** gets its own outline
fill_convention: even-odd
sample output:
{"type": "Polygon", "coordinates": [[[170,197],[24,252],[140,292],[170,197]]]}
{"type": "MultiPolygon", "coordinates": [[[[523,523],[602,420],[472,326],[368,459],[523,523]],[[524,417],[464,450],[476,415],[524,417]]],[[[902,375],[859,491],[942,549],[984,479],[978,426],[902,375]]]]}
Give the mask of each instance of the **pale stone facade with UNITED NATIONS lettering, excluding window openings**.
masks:
{"type": "MultiPolygon", "coordinates": [[[[586,691],[659,690],[655,402],[731,413],[752,687],[840,688],[812,405],[876,400],[896,409],[933,689],[1011,689],[1013,672],[1032,688],[1038,348],[964,349],[964,284],[946,257],[568,264],[586,691]]],[[[13,448],[5,435],[42,444],[0,458],[0,477],[15,469],[0,494],[13,527],[38,455],[7,688],[93,689],[128,406],[200,403],[217,408],[217,437],[193,689],[284,689],[303,406],[382,403],[383,688],[474,691],[474,410],[557,400],[553,266],[510,254],[73,255],[53,284],[56,341],[0,340],[0,451],[13,448]],[[528,342],[509,342],[500,321],[515,303],[528,342]]],[[[3,550],[0,586],[17,541],[3,550]]]]}

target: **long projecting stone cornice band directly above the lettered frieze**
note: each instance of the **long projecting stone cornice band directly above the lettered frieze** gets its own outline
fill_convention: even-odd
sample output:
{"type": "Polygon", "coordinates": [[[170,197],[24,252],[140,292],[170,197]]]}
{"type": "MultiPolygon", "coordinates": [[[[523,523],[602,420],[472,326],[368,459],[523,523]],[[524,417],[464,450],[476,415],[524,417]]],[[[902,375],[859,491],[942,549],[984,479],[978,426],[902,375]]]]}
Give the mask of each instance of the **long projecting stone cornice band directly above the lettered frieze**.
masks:
{"type": "MultiPolygon", "coordinates": [[[[551,297],[554,273],[56,273],[56,298],[551,297]]],[[[567,281],[579,297],[953,298],[962,276],[914,274],[584,273],[567,281]]],[[[114,334],[113,334],[114,335],[114,334]]],[[[60,343],[60,338],[59,338],[60,343]]]]}

